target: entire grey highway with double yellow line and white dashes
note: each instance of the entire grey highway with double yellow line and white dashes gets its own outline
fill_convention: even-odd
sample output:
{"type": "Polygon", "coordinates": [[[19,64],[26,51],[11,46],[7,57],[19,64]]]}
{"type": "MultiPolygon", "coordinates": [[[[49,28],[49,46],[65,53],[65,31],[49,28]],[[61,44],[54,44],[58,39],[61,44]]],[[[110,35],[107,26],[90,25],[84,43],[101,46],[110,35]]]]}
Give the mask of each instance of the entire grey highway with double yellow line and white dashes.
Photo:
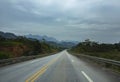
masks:
{"type": "Polygon", "coordinates": [[[64,50],[1,67],[0,82],[120,82],[120,75],[64,50]]]}

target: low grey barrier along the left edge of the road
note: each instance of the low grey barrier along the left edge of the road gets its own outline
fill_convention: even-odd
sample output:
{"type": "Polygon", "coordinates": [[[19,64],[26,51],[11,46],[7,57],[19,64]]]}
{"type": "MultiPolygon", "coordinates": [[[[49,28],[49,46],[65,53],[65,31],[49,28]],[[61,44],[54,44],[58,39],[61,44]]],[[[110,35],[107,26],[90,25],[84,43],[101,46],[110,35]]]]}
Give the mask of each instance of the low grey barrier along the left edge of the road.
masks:
{"type": "Polygon", "coordinates": [[[45,57],[45,56],[49,56],[49,55],[54,55],[54,54],[55,53],[41,54],[41,55],[34,55],[34,56],[21,56],[21,57],[17,57],[17,58],[2,59],[2,60],[0,60],[0,67],[10,65],[10,64],[19,63],[19,62],[23,62],[23,61],[27,61],[27,60],[32,60],[32,59],[36,59],[36,58],[41,58],[41,57],[45,57]]]}

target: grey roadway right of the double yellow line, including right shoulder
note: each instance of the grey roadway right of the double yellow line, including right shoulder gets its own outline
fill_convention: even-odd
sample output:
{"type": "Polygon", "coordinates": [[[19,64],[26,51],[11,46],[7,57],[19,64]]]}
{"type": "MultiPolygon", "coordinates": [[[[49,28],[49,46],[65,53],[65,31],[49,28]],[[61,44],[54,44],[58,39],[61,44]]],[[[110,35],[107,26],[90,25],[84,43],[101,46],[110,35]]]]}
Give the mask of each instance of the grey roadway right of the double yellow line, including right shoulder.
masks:
{"type": "Polygon", "coordinates": [[[120,82],[120,77],[64,51],[35,82],[120,82]]]}

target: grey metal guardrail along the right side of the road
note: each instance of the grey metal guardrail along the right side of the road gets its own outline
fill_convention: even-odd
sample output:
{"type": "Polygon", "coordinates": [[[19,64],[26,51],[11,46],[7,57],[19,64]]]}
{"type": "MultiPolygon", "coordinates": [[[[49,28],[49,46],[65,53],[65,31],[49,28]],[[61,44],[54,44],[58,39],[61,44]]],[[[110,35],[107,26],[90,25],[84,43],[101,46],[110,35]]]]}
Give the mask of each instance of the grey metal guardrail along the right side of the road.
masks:
{"type": "Polygon", "coordinates": [[[77,57],[81,56],[81,57],[86,57],[88,59],[100,62],[100,63],[107,63],[107,64],[111,64],[111,65],[116,65],[116,66],[120,66],[120,61],[115,61],[115,60],[111,60],[111,59],[106,59],[106,58],[100,58],[100,57],[95,57],[95,56],[88,56],[88,55],[83,55],[83,54],[77,54],[77,57]]]}

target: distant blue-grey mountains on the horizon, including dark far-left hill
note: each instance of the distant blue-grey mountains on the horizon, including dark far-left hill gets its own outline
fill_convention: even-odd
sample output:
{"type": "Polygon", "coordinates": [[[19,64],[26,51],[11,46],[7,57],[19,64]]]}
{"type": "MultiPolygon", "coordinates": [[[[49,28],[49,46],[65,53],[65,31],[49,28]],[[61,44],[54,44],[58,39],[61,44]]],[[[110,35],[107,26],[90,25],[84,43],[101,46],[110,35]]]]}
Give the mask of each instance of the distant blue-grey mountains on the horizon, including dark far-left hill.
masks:
{"type": "MultiPolygon", "coordinates": [[[[14,33],[2,32],[2,31],[0,31],[0,36],[7,38],[7,39],[15,39],[18,37],[14,33]]],[[[39,41],[42,41],[44,39],[47,43],[49,43],[51,45],[64,47],[64,48],[70,48],[70,47],[73,47],[79,43],[77,41],[58,41],[57,39],[55,39],[53,37],[46,36],[46,35],[41,36],[41,35],[29,34],[29,35],[25,35],[25,37],[29,38],[29,39],[37,39],[39,41]]]]}

